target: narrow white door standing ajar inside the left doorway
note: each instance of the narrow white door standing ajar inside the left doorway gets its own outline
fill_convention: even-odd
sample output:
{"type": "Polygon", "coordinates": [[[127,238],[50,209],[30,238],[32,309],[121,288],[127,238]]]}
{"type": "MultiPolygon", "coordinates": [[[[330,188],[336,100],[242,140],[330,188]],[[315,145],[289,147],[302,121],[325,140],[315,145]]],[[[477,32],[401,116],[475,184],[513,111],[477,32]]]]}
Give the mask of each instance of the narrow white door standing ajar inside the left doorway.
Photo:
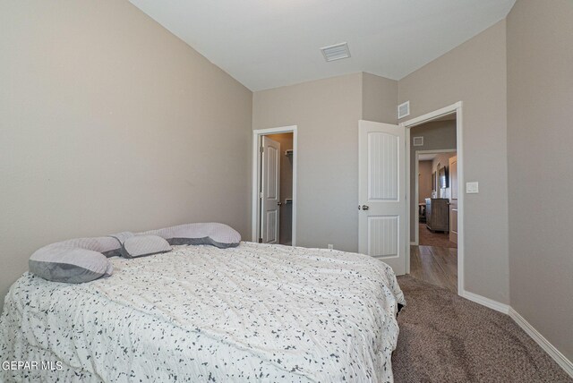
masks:
{"type": "Polygon", "coordinates": [[[280,143],[262,136],[261,239],[278,243],[280,222],[280,143]]]}

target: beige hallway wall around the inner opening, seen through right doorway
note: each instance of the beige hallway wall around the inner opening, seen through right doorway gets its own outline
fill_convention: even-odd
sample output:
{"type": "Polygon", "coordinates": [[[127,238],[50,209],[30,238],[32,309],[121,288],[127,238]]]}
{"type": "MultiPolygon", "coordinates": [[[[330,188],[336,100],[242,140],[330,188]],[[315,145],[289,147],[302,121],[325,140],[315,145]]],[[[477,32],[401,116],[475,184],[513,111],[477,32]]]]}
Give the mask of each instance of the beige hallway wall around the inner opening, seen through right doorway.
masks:
{"type": "MultiPolygon", "coordinates": [[[[435,121],[423,123],[410,129],[410,222],[415,223],[418,209],[415,201],[415,151],[456,149],[456,121],[435,121]],[[423,146],[412,145],[414,137],[423,137],[423,146]]],[[[432,174],[430,174],[432,175],[432,174]]],[[[432,179],[430,180],[432,191],[432,179]]],[[[421,201],[423,202],[423,200],[421,201]]],[[[410,225],[410,242],[415,240],[415,225],[410,225]]]]}

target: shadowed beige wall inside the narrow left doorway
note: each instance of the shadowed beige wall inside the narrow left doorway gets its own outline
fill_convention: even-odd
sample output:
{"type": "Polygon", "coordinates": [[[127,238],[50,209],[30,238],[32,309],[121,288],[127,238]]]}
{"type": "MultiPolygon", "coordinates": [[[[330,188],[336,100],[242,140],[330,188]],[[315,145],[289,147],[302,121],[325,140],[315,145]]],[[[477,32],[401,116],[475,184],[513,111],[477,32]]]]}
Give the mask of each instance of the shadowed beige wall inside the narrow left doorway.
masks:
{"type": "Polygon", "coordinates": [[[286,150],[293,149],[293,133],[269,134],[267,137],[280,143],[280,221],[278,242],[291,243],[293,233],[293,205],[286,204],[285,199],[293,198],[293,157],[286,156],[286,150]]]}

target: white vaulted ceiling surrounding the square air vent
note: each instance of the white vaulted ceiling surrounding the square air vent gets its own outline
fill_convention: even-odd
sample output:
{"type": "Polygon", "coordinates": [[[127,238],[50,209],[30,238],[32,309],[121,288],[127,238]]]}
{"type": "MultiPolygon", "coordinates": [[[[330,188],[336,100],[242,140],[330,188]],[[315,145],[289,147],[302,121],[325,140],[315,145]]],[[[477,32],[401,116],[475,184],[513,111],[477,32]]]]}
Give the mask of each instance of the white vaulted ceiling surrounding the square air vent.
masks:
{"type": "Polygon", "coordinates": [[[251,90],[371,72],[399,80],[516,0],[130,0],[251,90]],[[327,63],[320,48],[347,42],[327,63]]]}

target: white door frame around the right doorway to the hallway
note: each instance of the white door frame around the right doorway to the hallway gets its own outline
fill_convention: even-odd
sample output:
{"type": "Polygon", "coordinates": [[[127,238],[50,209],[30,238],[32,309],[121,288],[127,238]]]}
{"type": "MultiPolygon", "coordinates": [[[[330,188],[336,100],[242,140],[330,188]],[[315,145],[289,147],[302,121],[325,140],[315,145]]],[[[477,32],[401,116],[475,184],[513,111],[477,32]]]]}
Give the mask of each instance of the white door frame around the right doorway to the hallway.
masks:
{"type": "MultiPolygon", "coordinates": [[[[465,230],[464,230],[464,206],[465,206],[465,189],[462,187],[465,183],[464,177],[464,136],[463,136],[463,115],[462,101],[455,104],[442,107],[433,112],[420,115],[413,119],[400,123],[400,126],[406,128],[406,192],[410,190],[410,128],[422,123],[429,123],[443,115],[456,113],[456,150],[458,155],[458,295],[464,294],[464,253],[465,253],[465,230]]],[[[410,222],[410,205],[406,206],[407,235],[410,236],[412,222],[410,222]]],[[[406,274],[410,273],[410,240],[406,241],[406,274]]]]}

